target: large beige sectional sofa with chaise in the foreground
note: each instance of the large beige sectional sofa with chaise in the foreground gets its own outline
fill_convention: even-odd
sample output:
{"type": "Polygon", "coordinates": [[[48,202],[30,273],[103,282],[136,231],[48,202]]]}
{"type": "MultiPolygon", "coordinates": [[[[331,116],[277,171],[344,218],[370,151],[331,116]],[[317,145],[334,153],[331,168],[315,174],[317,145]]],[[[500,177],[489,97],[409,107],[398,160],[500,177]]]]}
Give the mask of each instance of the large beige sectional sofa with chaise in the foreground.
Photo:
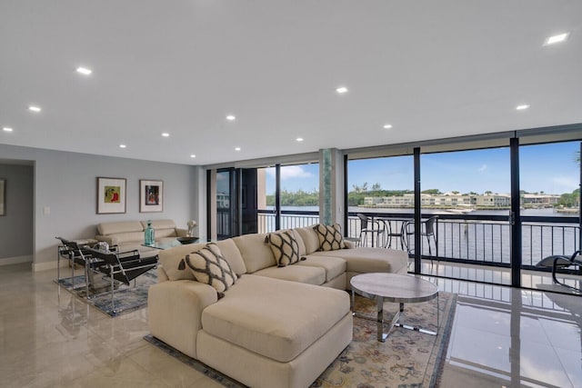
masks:
{"type": "Polygon", "coordinates": [[[305,260],[281,267],[266,234],[216,242],[237,275],[222,298],[184,265],[186,255],[189,263],[191,253],[208,252],[206,244],[162,251],[159,283],[149,289],[152,335],[248,386],[313,383],[352,340],[349,279],[406,273],[407,255],[348,242],[347,249],[321,252],[313,227],[292,234],[305,260]]]}

